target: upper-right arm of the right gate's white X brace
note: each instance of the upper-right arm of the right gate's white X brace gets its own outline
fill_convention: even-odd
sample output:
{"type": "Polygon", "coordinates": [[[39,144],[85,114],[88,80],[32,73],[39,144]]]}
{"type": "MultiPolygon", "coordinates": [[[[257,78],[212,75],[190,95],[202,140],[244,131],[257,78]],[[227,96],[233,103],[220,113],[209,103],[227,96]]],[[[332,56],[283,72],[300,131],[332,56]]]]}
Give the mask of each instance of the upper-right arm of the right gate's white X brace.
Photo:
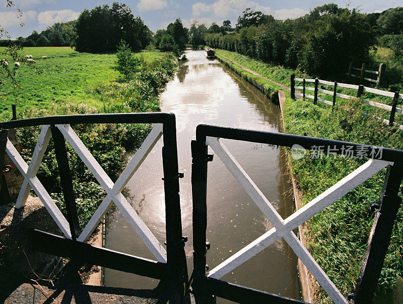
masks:
{"type": "Polygon", "coordinates": [[[393,163],[378,159],[368,160],[349,175],[338,181],[338,183],[334,184],[332,187],[286,218],[284,220],[286,229],[291,231],[297,228],[299,225],[330,206],[333,202],[344,197],[351,190],[364,183],[364,181],[388,165],[393,165],[393,163]]]}

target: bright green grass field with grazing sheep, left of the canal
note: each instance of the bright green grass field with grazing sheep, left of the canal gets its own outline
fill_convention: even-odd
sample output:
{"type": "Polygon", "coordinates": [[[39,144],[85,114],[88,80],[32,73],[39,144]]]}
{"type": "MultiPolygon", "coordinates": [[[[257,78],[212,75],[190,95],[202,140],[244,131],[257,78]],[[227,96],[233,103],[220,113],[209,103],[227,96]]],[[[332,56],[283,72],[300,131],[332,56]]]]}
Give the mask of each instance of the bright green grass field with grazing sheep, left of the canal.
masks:
{"type": "MultiPolygon", "coordinates": [[[[12,103],[17,104],[17,114],[23,109],[42,109],[64,102],[84,102],[98,108],[102,102],[99,95],[93,94],[94,88],[119,77],[118,72],[110,69],[116,59],[114,53],[79,53],[70,47],[26,47],[22,53],[24,56],[33,55],[36,60],[34,65],[40,74],[35,74],[24,64],[16,70],[22,89],[14,91],[10,84],[3,87],[8,92],[0,99],[0,120],[11,118],[12,103]],[[47,56],[47,59],[42,59],[42,56],[47,56]]],[[[163,56],[156,51],[144,51],[137,55],[141,53],[146,55],[147,60],[163,56]]],[[[10,66],[13,66],[12,62],[10,66]]]]}

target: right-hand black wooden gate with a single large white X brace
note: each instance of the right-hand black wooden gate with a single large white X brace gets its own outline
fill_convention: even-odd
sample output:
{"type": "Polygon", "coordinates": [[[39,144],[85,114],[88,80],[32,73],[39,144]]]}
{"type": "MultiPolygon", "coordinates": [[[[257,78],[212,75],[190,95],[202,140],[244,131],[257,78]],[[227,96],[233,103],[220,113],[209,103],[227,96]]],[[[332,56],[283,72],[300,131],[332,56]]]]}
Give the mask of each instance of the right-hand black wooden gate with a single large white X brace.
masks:
{"type": "Polygon", "coordinates": [[[398,191],[403,175],[403,170],[401,169],[403,165],[403,151],[312,137],[209,125],[197,126],[196,140],[191,143],[191,151],[194,249],[191,286],[196,302],[214,302],[215,297],[213,295],[236,302],[247,303],[300,302],[219,280],[222,276],[282,237],[335,303],[347,303],[348,301],[354,303],[372,302],[389,245],[394,220],[401,202],[398,191]],[[283,219],[228,149],[220,142],[220,138],[284,147],[299,145],[306,150],[317,150],[317,147],[321,147],[324,153],[331,151],[334,154],[344,155],[346,155],[346,147],[348,147],[349,156],[368,158],[368,161],[301,209],[283,219]],[[208,146],[221,159],[240,186],[274,227],[207,273],[206,254],[210,248],[210,244],[206,239],[208,224],[207,164],[213,159],[213,155],[208,154],[208,146]],[[375,211],[367,250],[357,279],[357,287],[354,293],[343,295],[305,249],[302,242],[293,232],[293,229],[342,198],[349,191],[385,167],[387,167],[387,170],[383,189],[380,194],[379,208],[375,211]]]}

